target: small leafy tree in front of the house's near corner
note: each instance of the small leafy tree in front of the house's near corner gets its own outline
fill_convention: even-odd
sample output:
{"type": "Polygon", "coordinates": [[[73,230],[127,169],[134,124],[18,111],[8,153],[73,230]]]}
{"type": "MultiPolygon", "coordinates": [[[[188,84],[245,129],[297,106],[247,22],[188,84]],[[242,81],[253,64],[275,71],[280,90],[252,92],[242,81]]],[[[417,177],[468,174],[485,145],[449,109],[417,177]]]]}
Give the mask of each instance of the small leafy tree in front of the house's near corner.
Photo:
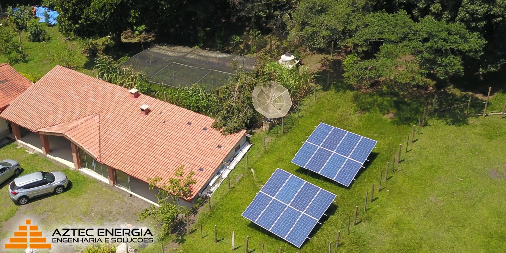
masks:
{"type": "Polygon", "coordinates": [[[139,215],[139,220],[152,218],[160,226],[160,237],[164,237],[172,232],[175,225],[180,221],[180,215],[186,219],[189,215],[189,209],[186,206],[178,205],[178,200],[187,200],[192,197],[192,187],[197,182],[193,179],[195,172],[185,173],[184,165],[176,169],[174,178],[170,178],[167,184],[161,185],[161,178],[154,178],[149,183],[151,190],[158,187],[156,194],[158,205],[152,205],[146,208],[139,215]],[[185,176],[186,174],[186,176],[185,176]]]}

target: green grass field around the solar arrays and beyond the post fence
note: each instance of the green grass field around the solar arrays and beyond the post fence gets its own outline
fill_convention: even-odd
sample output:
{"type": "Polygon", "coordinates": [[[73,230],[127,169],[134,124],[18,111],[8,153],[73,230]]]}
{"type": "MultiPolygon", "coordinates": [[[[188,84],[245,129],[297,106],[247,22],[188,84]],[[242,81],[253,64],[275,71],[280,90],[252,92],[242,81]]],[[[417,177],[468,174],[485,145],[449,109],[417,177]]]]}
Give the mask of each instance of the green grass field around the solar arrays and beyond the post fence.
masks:
{"type": "MultiPolygon", "coordinates": [[[[327,252],[332,241],[333,252],[504,252],[506,251],[506,159],[503,140],[506,119],[498,116],[471,118],[469,124],[447,125],[430,120],[416,135],[405,153],[406,137],[411,128],[396,125],[378,112],[359,113],[353,92],[328,91],[318,94],[315,104],[305,101],[301,118],[290,115],[285,123],[288,133],[276,137],[272,130],[267,151],[263,150],[265,135],[252,137],[255,145],[249,152],[249,166],[255,175],[246,172],[243,159],[231,174],[232,189],[224,183],[213,195],[213,207],[202,207],[194,232],[184,238],[182,252],[224,252],[231,250],[235,231],[236,251],[248,249],[265,252],[327,252]],[[356,182],[348,189],[290,163],[320,122],[376,140],[372,159],[356,182]],[[393,160],[399,144],[403,144],[403,161],[389,173],[378,192],[381,170],[393,160]],[[291,246],[283,239],[241,217],[241,213],[277,167],[337,195],[327,210],[328,218],[317,225],[302,248],[291,246]],[[375,183],[375,199],[364,213],[366,191],[375,183]],[[359,206],[357,226],[346,233],[348,217],[359,206]],[[200,238],[202,224],[204,238],[200,238]],[[215,243],[214,226],[218,227],[215,243]],[[339,248],[335,239],[341,230],[339,248]]],[[[280,131],[280,130],[279,130],[280,131]]],[[[278,131],[278,133],[279,133],[278,131]]],[[[391,164],[392,165],[392,164],[391,164]]],[[[392,169],[392,166],[390,166],[392,169]]],[[[370,195],[369,195],[370,196],[370,195]]],[[[353,217],[352,217],[353,222],[353,217]]]]}

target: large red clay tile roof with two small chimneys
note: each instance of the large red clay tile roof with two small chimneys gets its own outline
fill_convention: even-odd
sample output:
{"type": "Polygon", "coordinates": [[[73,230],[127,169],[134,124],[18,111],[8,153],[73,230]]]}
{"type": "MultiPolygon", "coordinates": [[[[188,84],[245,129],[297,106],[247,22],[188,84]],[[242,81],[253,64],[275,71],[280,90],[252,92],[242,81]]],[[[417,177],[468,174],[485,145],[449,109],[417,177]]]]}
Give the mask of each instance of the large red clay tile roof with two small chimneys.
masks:
{"type": "Polygon", "coordinates": [[[63,134],[97,160],[145,182],[160,177],[164,184],[184,164],[185,174],[196,173],[194,196],[245,133],[223,136],[211,128],[212,117],[145,95],[131,98],[127,89],[62,66],[40,78],[2,117],[32,132],[63,134]],[[143,104],[149,105],[147,115],[143,104]]]}

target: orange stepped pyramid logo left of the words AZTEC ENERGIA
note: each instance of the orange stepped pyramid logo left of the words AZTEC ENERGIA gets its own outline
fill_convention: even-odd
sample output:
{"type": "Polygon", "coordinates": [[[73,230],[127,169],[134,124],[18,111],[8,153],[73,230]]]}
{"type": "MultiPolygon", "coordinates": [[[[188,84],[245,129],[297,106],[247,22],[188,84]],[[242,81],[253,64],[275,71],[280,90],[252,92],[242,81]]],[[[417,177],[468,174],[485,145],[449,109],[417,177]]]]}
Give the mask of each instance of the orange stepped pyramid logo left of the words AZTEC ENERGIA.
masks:
{"type": "Polygon", "coordinates": [[[38,231],[38,226],[31,226],[31,221],[26,220],[25,226],[19,226],[18,231],[14,232],[14,237],[10,238],[11,243],[6,243],[5,248],[51,248],[51,243],[47,243],[48,238],[42,237],[42,232],[38,231]]]}

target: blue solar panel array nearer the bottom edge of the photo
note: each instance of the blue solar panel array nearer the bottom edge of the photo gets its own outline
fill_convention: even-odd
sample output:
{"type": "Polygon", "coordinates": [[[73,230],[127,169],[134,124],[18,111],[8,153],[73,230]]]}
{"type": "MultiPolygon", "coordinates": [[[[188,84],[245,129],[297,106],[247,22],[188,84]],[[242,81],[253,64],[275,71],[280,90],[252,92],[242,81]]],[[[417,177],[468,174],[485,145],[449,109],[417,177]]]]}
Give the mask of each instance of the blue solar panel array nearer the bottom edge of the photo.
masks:
{"type": "Polygon", "coordinates": [[[241,216],[301,247],[334,198],[278,168],[241,216]]]}

